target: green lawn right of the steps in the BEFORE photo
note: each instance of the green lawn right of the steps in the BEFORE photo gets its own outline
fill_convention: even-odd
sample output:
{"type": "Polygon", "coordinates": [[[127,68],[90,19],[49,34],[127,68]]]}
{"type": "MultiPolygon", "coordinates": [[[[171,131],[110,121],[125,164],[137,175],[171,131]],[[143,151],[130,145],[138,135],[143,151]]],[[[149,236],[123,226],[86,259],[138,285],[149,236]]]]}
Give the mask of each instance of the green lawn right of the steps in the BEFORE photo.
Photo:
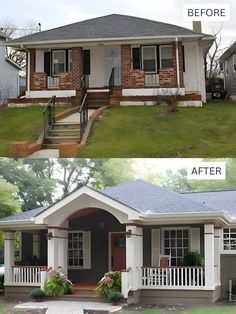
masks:
{"type": "Polygon", "coordinates": [[[118,107],[95,124],[81,157],[236,157],[236,104],[118,107]]]}

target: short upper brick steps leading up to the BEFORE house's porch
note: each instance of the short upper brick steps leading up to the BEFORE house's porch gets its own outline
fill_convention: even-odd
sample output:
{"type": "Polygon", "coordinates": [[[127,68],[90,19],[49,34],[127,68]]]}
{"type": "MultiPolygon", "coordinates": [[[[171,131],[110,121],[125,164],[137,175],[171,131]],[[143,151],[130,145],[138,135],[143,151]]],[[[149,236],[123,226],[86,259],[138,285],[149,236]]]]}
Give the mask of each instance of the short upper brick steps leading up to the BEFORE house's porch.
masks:
{"type": "Polygon", "coordinates": [[[89,109],[97,109],[110,104],[109,89],[88,89],[87,102],[89,109]]]}

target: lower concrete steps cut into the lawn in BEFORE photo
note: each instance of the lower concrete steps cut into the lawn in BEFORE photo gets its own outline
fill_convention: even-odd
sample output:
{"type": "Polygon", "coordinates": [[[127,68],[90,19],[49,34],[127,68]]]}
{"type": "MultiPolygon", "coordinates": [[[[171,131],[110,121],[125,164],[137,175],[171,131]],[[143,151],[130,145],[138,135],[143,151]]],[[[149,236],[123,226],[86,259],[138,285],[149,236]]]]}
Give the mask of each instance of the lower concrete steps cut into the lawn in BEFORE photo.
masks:
{"type": "Polygon", "coordinates": [[[79,142],[80,124],[70,122],[56,122],[52,125],[44,139],[43,148],[57,149],[59,144],[66,142],[79,142]]]}

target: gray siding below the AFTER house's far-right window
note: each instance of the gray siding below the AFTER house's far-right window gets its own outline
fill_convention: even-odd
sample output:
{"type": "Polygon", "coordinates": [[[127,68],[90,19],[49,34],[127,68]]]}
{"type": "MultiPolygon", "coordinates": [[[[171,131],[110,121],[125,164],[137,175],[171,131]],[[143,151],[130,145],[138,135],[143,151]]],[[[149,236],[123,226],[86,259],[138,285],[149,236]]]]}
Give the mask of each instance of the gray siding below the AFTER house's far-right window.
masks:
{"type": "Polygon", "coordinates": [[[228,298],[229,279],[236,278],[236,254],[221,255],[221,298],[228,298]]]}

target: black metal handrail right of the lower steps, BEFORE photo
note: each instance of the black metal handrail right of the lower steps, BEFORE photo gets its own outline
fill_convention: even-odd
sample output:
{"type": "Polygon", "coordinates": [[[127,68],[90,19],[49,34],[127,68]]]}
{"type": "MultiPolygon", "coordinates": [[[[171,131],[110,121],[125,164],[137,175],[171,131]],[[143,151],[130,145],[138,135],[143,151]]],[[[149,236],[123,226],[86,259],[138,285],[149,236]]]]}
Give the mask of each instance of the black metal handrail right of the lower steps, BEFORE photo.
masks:
{"type": "Polygon", "coordinates": [[[81,78],[81,85],[83,89],[83,98],[79,109],[80,114],[80,141],[82,140],[86,125],[88,123],[88,101],[87,101],[87,89],[88,89],[88,75],[83,75],[81,78]]]}

